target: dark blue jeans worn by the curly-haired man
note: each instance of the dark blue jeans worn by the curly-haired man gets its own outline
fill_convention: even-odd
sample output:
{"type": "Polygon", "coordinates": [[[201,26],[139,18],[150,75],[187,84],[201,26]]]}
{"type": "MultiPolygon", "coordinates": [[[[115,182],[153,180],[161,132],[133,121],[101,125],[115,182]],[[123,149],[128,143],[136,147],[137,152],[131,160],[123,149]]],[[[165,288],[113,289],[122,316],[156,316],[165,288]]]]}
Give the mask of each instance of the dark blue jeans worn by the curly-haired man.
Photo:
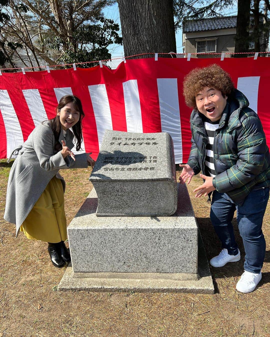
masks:
{"type": "Polygon", "coordinates": [[[234,237],[232,220],[237,211],[237,224],[245,248],[244,270],[260,273],[265,256],[265,239],[262,223],[269,199],[269,187],[249,192],[242,206],[236,206],[226,193],[213,191],[210,218],[221,247],[228,254],[237,255],[238,246],[234,237]]]}

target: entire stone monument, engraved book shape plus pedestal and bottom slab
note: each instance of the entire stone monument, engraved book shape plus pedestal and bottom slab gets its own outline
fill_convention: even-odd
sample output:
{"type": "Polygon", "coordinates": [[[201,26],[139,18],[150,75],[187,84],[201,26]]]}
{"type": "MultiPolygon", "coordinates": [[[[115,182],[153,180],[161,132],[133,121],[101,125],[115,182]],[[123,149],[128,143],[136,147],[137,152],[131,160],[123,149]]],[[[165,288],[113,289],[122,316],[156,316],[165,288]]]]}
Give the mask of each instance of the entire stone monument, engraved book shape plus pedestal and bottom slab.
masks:
{"type": "Polygon", "coordinates": [[[68,226],[72,268],[59,290],[214,293],[174,167],[169,134],[106,130],[89,178],[95,189],[68,226]]]}

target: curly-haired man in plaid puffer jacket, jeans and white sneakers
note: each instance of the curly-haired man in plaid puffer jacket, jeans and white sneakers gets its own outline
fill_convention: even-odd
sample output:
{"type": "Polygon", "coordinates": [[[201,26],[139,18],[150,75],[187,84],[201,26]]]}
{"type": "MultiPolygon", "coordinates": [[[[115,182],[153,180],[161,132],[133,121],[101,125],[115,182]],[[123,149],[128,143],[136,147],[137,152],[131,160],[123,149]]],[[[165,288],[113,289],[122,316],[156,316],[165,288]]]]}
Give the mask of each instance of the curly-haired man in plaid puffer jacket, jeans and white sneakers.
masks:
{"type": "Polygon", "coordinates": [[[191,151],[180,182],[189,184],[200,171],[204,183],[196,197],[212,193],[210,218],[222,250],[210,260],[214,267],[240,260],[232,219],[245,248],[244,273],[236,289],[252,292],[262,278],[265,239],[262,222],[270,186],[270,154],[257,114],[221,67],[193,69],[184,80],[190,117],[191,151]]]}

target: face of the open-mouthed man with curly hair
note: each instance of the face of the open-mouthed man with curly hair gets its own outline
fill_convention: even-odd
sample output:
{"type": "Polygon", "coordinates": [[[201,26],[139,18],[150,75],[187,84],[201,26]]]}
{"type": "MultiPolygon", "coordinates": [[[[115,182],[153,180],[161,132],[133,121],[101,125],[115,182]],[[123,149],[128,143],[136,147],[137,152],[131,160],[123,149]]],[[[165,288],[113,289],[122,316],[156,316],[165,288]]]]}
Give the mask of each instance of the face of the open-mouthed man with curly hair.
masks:
{"type": "Polygon", "coordinates": [[[199,112],[212,122],[219,121],[227,103],[227,96],[222,96],[221,91],[213,87],[205,87],[197,93],[196,105],[199,112]]]}

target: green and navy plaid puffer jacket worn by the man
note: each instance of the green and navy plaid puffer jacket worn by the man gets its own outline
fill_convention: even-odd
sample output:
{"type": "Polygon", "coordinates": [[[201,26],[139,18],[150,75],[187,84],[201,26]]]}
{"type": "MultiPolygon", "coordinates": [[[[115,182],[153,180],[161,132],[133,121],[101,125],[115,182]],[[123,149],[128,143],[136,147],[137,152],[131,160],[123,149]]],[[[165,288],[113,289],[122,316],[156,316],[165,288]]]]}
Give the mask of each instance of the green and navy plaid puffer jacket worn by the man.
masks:
{"type": "MultiPolygon", "coordinates": [[[[262,123],[248,108],[249,102],[240,91],[225,106],[214,137],[213,185],[242,205],[252,188],[270,186],[270,154],[262,123]]],[[[195,174],[205,174],[207,133],[204,115],[194,109],[190,117],[192,132],[188,164],[195,174]]]]}

